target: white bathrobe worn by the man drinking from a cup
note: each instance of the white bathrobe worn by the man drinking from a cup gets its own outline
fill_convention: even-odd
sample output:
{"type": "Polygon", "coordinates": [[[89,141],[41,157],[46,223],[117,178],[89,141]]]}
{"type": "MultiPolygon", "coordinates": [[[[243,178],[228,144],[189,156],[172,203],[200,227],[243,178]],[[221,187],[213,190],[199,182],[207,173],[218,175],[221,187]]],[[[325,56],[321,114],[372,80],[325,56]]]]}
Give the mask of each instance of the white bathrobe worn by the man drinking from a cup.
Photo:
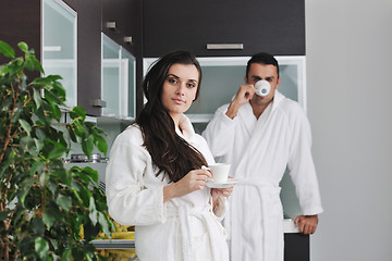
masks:
{"type": "Polygon", "coordinates": [[[283,260],[283,210],[279,183],[286,166],[305,215],[322,212],[310,153],[310,127],[299,104],[275,91],[257,120],[250,103],[232,120],[219,108],[203,133],[219,162],[240,179],[224,224],[232,261],[283,260]]]}

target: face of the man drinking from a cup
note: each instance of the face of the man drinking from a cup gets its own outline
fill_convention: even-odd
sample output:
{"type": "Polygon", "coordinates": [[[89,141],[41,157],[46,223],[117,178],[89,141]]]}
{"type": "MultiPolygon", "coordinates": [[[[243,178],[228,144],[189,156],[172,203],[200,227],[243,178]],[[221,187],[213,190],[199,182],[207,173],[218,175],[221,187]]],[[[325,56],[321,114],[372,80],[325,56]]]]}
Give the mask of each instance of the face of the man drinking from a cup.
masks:
{"type": "Polygon", "coordinates": [[[265,79],[271,85],[271,91],[268,96],[257,96],[254,95],[250,102],[254,105],[268,105],[274,96],[275,89],[279,88],[280,78],[278,77],[278,69],[272,64],[260,64],[253,63],[250,64],[249,72],[247,77],[245,76],[245,83],[249,85],[254,85],[260,80],[265,79]]]}

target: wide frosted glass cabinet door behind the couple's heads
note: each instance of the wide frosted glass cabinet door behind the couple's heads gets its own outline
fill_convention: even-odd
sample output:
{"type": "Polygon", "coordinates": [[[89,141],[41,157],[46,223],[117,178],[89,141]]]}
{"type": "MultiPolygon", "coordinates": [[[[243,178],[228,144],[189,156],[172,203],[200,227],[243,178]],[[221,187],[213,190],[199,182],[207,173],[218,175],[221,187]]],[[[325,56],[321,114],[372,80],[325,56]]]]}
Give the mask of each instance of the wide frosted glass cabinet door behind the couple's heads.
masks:
{"type": "MultiPolygon", "coordinates": [[[[203,70],[199,100],[195,101],[187,116],[196,130],[203,130],[216,110],[229,103],[240,85],[245,84],[246,63],[250,57],[198,58],[203,70]]],[[[305,57],[275,57],[279,62],[281,83],[279,91],[298,101],[306,110],[305,57]]],[[[144,60],[144,71],[156,59],[144,60]]]]}

